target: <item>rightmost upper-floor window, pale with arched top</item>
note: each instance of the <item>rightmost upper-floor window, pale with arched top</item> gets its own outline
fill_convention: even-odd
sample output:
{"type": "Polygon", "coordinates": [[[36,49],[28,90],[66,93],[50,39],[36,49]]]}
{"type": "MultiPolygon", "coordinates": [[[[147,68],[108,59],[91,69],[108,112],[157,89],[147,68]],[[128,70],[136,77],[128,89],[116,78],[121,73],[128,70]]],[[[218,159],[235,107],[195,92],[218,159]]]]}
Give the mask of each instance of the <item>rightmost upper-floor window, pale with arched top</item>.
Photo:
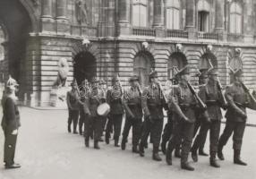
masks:
{"type": "Polygon", "coordinates": [[[231,33],[242,33],[242,8],[235,2],[230,6],[229,31],[231,33]]]}

